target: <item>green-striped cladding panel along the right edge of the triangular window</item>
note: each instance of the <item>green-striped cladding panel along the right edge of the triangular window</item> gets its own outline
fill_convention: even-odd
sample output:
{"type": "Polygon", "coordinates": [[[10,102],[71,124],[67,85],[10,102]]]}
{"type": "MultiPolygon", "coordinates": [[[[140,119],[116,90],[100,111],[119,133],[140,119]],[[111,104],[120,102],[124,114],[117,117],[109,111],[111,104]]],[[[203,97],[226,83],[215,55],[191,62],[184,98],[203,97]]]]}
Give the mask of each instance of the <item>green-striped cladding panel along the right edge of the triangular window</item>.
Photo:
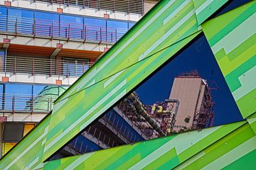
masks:
{"type": "Polygon", "coordinates": [[[256,1],[203,23],[242,117],[256,111],[256,1]]]}

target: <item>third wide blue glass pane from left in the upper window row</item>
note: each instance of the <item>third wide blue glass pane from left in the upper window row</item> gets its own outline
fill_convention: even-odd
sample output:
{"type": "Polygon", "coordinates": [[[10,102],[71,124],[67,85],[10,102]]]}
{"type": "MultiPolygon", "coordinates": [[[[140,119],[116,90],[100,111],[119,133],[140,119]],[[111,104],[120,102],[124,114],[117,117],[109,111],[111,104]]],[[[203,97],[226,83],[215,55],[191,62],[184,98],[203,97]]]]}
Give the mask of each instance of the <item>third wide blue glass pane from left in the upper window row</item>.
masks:
{"type": "Polygon", "coordinates": [[[60,15],[60,37],[83,39],[83,31],[82,17],[60,15]]]}

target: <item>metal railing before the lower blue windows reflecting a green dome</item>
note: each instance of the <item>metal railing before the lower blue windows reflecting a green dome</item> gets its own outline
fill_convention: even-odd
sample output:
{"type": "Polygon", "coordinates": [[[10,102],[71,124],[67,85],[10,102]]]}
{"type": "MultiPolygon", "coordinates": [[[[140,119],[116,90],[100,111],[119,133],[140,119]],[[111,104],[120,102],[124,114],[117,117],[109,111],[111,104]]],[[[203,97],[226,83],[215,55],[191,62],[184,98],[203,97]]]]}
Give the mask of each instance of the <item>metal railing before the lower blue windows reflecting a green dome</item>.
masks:
{"type": "Polygon", "coordinates": [[[1,94],[0,112],[4,113],[49,113],[58,96],[31,96],[26,94],[1,94]]]}

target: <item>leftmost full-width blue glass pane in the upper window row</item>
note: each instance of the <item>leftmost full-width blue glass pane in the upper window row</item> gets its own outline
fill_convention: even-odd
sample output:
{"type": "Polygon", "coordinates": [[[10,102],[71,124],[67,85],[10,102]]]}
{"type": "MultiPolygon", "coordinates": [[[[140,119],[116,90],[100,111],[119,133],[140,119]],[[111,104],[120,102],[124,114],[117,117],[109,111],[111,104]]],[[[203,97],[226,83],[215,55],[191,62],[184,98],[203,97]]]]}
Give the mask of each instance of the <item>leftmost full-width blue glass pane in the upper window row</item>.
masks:
{"type": "Polygon", "coordinates": [[[33,34],[33,11],[8,8],[8,31],[33,34]]]}

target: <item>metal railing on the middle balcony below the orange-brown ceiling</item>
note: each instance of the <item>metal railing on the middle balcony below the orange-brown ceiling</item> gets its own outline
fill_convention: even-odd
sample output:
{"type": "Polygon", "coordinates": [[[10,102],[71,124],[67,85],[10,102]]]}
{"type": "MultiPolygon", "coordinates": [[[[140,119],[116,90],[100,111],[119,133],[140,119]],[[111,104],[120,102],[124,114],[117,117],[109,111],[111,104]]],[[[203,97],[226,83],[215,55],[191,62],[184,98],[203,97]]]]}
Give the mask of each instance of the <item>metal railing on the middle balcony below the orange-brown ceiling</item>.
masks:
{"type": "Polygon", "coordinates": [[[89,61],[50,60],[32,57],[7,56],[3,71],[11,73],[61,75],[65,77],[80,77],[92,66],[89,61]]]}

